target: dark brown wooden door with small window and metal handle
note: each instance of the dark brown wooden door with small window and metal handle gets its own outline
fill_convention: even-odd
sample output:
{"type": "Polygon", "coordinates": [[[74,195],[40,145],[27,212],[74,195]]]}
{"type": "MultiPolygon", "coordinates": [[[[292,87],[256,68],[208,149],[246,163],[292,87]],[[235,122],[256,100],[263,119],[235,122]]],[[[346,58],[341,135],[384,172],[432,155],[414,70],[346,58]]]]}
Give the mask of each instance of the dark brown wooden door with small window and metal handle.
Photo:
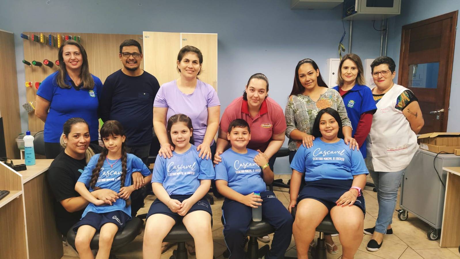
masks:
{"type": "Polygon", "coordinates": [[[404,25],[398,84],[419,99],[420,134],[446,132],[458,11],[404,25]]]}

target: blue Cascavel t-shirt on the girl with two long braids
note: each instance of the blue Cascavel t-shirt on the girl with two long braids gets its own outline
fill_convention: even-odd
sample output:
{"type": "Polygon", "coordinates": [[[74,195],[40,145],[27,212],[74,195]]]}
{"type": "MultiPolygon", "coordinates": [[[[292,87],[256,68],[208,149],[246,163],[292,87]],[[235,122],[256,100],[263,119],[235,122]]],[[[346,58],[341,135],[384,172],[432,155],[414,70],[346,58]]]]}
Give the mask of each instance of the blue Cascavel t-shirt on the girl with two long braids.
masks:
{"type": "MultiPolygon", "coordinates": [[[[84,183],[89,191],[92,191],[92,188],[90,188],[89,184],[91,181],[92,170],[98,164],[99,155],[100,154],[92,156],[80,178],[78,178],[78,181],[84,183]]],[[[107,159],[104,160],[104,164],[99,171],[99,178],[96,181],[95,186],[100,187],[101,189],[110,189],[118,193],[121,188],[121,160],[116,161],[109,159],[109,162],[111,165],[113,165],[113,167],[110,167],[109,163],[107,163],[107,159]]],[[[132,154],[127,154],[126,171],[125,186],[130,186],[132,184],[131,175],[133,172],[140,172],[144,176],[150,175],[150,170],[145,166],[144,162],[132,154]]],[[[86,206],[86,209],[81,215],[81,218],[83,219],[83,217],[85,217],[86,213],[88,212],[106,213],[116,210],[121,210],[131,219],[131,206],[126,207],[126,201],[121,198],[116,200],[115,203],[112,203],[112,205],[97,206],[90,202],[90,204],[86,206]]]]}

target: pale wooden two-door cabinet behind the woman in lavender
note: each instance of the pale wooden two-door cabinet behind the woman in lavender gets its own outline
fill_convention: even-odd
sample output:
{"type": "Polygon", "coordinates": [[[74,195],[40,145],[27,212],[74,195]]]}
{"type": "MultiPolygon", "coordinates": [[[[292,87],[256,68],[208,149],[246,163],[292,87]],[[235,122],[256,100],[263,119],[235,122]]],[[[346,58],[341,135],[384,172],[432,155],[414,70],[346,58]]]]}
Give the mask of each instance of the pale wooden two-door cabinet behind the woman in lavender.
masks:
{"type": "Polygon", "coordinates": [[[177,54],[183,46],[195,46],[203,54],[198,78],[217,91],[217,34],[144,31],[144,69],[161,84],[179,77],[177,54]]]}

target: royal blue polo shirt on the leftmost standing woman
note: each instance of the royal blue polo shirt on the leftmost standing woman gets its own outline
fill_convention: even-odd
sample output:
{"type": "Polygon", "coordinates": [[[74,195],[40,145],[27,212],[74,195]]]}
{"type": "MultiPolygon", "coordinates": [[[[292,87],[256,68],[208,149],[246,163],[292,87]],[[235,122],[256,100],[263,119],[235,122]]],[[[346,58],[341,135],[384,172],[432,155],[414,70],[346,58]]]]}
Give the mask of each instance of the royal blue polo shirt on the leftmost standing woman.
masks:
{"type": "MultiPolygon", "coordinates": [[[[99,138],[98,106],[101,98],[102,82],[94,75],[92,90],[77,88],[61,88],[56,83],[58,71],[48,75],[40,84],[37,95],[50,102],[50,110],[46,116],[43,138],[48,143],[59,143],[64,122],[70,118],[80,117],[88,122],[91,141],[99,138]]],[[[65,83],[73,85],[69,75],[65,75],[65,83]]],[[[82,86],[82,85],[81,85],[82,86]]]]}

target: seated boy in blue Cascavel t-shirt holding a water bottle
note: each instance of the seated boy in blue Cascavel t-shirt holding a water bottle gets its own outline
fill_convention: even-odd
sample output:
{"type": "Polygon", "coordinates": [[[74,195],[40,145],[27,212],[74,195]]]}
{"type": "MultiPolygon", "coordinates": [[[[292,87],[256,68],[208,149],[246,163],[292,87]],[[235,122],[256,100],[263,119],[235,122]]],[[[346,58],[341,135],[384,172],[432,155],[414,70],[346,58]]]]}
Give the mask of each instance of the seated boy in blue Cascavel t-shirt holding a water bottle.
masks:
{"type": "Polygon", "coordinates": [[[225,197],[222,205],[224,239],[230,250],[230,259],[245,258],[244,236],[252,219],[252,208],[262,206],[262,218],[275,227],[270,251],[265,258],[284,258],[291,242],[293,218],[275,194],[266,190],[274,174],[267,157],[258,151],[247,149],[251,139],[249,125],[236,119],[229,125],[227,139],[231,148],[222,155],[222,162],[215,166],[216,186],[225,197]],[[260,192],[260,197],[254,195],[260,192]]]}

